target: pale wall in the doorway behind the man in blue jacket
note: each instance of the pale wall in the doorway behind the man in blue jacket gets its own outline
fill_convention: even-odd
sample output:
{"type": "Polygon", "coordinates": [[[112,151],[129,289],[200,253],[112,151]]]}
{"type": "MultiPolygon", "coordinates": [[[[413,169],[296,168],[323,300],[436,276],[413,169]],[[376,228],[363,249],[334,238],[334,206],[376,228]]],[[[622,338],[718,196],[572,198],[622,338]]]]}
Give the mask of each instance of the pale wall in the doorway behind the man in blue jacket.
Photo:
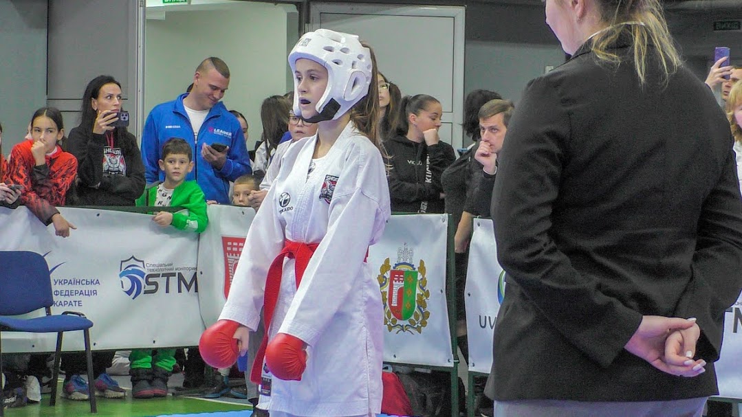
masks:
{"type": "Polygon", "coordinates": [[[286,6],[240,1],[214,10],[171,10],[164,20],[148,19],[145,114],[185,93],[200,61],[217,56],[231,73],[223,102],[248,119],[252,149],[262,133],[260,103],[293,88],[286,85],[286,16],[286,6]]]}

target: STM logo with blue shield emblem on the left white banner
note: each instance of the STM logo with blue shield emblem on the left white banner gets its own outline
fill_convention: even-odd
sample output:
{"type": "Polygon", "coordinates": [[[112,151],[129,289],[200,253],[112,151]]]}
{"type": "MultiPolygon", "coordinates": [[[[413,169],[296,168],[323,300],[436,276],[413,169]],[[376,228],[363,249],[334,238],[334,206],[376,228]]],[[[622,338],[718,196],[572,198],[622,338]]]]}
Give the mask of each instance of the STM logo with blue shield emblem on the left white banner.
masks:
{"type": "Polygon", "coordinates": [[[120,271],[121,290],[132,300],[155,293],[198,293],[195,266],[177,266],[173,262],[153,263],[132,255],[121,261],[120,271]]]}

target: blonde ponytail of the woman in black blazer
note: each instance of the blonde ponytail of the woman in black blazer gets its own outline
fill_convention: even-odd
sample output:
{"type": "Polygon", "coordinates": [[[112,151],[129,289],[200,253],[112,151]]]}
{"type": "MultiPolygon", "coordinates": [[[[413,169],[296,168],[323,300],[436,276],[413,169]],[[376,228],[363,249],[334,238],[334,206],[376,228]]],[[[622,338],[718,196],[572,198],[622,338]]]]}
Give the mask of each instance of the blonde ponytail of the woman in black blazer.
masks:
{"type": "Polygon", "coordinates": [[[646,84],[647,64],[650,56],[657,59],[663,72],[663,81],[669,81],[672,73],[680,67],[680,54],[667,28],[659,0],[595,0],[600,9],[600,19],[608,24],[605,30],[592,39],[592,51],[600,61],[620,64],[621,58],[609,47],[629,25],[634,47],[634,68],[640,84],[646,84]],[[654,50],[651,49],[654,45],[654,50]]]}

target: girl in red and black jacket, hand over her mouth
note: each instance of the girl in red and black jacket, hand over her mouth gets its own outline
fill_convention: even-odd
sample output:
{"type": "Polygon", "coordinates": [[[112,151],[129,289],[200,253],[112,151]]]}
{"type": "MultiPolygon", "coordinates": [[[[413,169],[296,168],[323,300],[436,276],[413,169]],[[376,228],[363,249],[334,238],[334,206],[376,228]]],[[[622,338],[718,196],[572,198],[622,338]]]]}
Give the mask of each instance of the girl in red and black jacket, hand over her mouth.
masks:
{"type": "Polygon", "coordinates": [[[70,236],[76,229],[62,217],[55,206],[65,204],[77,172],[77,160],[57,145],[65,135],[62,112],[42,107],[31,118],[32,141],[13,147],[8,161],[9,180],[22,185],[21,204],[28,207],[42,223],[54,225],[56,236],[70,236]]]}

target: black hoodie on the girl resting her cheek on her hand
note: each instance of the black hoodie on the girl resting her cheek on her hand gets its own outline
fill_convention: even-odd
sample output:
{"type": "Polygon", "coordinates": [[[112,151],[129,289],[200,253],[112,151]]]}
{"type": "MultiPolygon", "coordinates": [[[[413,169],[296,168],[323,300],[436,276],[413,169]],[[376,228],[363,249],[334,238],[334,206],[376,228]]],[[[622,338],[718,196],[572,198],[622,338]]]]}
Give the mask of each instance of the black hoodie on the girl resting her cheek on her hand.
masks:
{"type": "Polygon", "coordinates": [[[427,146],[405,136],[384,141],[389,170],[392,211],[444,213],[441,174],[456,160],[453,147],[444,141],[427,146]]]}

